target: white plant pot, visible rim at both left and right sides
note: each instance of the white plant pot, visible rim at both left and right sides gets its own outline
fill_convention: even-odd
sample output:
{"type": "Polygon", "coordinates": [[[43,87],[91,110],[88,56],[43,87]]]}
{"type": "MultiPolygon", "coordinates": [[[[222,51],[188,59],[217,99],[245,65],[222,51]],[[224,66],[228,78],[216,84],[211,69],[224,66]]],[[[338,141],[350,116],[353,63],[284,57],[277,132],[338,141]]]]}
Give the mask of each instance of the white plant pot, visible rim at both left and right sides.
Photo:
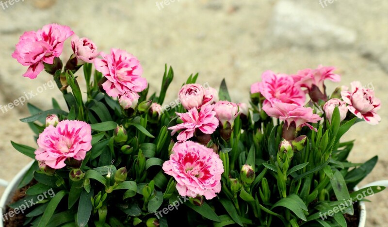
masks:
{"type": "MultiPolygon", "coordinates": [[[[6,186],[4,194],[1,196],[1,199],[0,199],[1,215],[4,213],[4,210],[5,210],[5,207],[7,206],[7,204],[11,201],[11,198],[12,198],[21,178],[23,178],[24,174],[30,169],[33,162],[34,161],[30,162],[22,170],[20,170],[20,172],[17,173],[15,178],[12,179],[12,181],[8,184],[8,186],[6,186],[7,182],[5,180],[0,179],[0,186],[6,186]]],[[[368,187],[376,186],[376,185],[388,187],[388,180],[375,181],[375,182],[367,184],[361,188],[355,187],[354,190],[357,191],[357,190],[362,189],[362,188],[368,188],[368,187]]],[[[365,223],[366,223],[366,219],[367,219],[367,211],[365,208],[365,203],[361,201],[358,203],[358,206],[360,208],[360,222],[359,222],[358,227],[365,227],[365,223]]],[[[4,227],[2,219],[0,221],[0,227],[4,227]]]]}

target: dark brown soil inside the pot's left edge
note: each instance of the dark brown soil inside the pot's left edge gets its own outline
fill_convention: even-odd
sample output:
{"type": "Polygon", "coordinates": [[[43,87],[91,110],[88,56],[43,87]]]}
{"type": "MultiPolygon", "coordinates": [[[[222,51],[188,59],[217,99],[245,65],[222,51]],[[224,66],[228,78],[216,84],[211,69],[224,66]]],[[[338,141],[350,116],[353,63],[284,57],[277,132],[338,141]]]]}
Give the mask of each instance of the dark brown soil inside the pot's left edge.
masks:
{"type": "MultiPolygon", "coordinates": [[[[24,197],[26,197],[27,189],[32,187],[32,185],[34,185],[34,184],[36,184],[36,182],[33,180],[29,184],[27,184],[26,186],[24,186],[20,189],[17,189],[15,192],[15,195],[12,197],[12,200],[9,204],[15,203],[15,202],[19,201],[20,199],[23,199],[24,197]]],[[[14,209],[7,206],[5,213],[8,213],[8,212],[13,211],[13,210],[14,209]]],[[[24,214],[18,213],[18,214],[15,214],[15,216],[13,216],[13,217],[8,217],[8,219],[5,220],[4,226],[5,227],[20,227],[20,226],[23,226],[23,223],[25,222],[25,220],[26,220],[26,217],[24,216],[24,214]]]]}

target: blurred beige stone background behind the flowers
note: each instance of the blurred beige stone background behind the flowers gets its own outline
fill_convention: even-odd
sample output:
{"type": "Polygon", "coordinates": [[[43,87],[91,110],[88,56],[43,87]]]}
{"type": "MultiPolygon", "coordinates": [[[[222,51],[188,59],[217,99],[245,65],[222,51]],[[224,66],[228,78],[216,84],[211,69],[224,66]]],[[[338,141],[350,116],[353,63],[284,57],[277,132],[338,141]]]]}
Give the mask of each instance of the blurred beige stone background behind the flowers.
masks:
{"type": "MultiPolygon", "coordinates": [[[[361,184],[388,179],[386,0],[19,0],[7,6],[0,6],[3,106],[31,91],[36,96],[29,101],[41,108],[49,108],[51,97],[60,97],[56,88],[43,87],[51,76],[42,72],[36,80],[23,78],[26,67],[11,58],[24,31],[53,22],[92,39],[102,51],[120,48],[137,56],[152,91],[160,89],[164,64],[172,65],[175,81],[167,101],[176,98],[191,73],[199,72],[198,82],[214,87],[226,78],[233,101],[246,102],[250,84],[267,69],[292,74],[334,65],[342,81],[327,82],[328,93],[358,80],[372,85],[382,101],[382,122],[357,124],[345,139],[357,139],[353,162],[379,155],[376,168],[361,184]]],[[[66,42],[63,61],[71,53],[66,42]]],[[[0,110],[0,178],[11,180],[31,161],[10,144],[13,140],[36,147],[28,125],[18,120],[26,116],[25,105],[0,110]]],[[[388,191],[370,199],[367,226],[386,226],[388,191]]]]}

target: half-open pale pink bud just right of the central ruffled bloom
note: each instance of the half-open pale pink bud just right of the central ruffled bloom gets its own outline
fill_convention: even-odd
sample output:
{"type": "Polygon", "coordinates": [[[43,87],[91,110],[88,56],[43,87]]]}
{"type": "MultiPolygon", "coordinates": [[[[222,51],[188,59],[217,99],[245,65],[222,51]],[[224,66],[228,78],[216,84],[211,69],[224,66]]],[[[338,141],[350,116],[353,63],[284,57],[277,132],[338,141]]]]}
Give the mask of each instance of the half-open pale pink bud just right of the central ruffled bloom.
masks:
{"type": "Polygon", "coordinates": [[[224,128],[226,127],[227,122],[233,128],[234,119],[236,119],[236,117],[239,115],[239,107],[236,103],[229,101],[218,101],[214,105],[213,110],[215,111],[218,120],[224,128]]]}

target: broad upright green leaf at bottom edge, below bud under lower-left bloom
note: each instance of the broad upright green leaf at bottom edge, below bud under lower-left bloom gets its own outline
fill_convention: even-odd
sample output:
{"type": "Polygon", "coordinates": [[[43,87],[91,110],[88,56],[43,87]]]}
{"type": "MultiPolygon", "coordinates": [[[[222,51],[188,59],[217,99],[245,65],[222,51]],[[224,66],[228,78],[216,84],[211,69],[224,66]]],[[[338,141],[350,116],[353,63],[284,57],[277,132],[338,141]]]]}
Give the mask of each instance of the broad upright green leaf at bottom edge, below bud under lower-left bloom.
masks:
{"type": "Polygon", "coordinates": [[[79,227],[84,227],[88,224],[90,215],[92,214],[93,204],[91,198],[93,197],[94,188],[90,192],[82,190],[80,202],[77,212],[77,224],[79,227]]]}

